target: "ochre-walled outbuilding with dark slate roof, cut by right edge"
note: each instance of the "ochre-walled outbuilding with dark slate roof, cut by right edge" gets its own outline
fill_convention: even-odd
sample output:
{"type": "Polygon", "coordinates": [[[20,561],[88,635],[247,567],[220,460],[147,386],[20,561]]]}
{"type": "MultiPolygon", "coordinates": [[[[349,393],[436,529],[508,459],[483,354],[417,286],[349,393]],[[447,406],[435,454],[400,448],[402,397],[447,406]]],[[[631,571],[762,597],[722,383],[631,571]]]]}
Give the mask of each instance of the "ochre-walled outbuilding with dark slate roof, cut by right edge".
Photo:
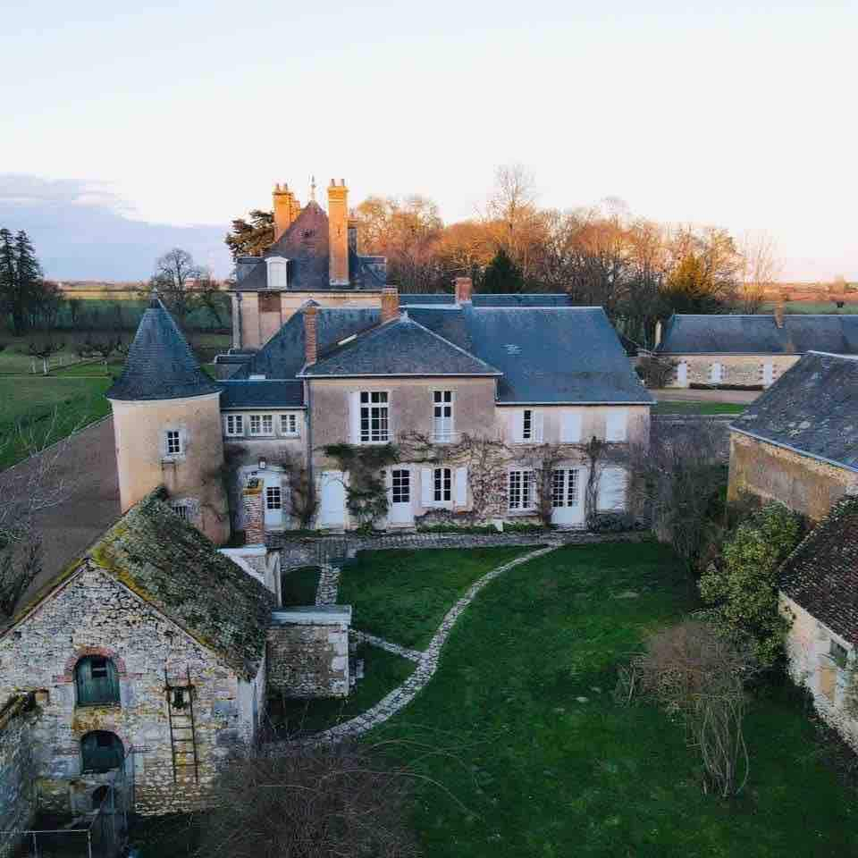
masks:
{"type": "Polygon", "coordinates": [[[858,486],[858,357],[809,352],[730,430],[730,498],[820,520],[858,486]]]}

